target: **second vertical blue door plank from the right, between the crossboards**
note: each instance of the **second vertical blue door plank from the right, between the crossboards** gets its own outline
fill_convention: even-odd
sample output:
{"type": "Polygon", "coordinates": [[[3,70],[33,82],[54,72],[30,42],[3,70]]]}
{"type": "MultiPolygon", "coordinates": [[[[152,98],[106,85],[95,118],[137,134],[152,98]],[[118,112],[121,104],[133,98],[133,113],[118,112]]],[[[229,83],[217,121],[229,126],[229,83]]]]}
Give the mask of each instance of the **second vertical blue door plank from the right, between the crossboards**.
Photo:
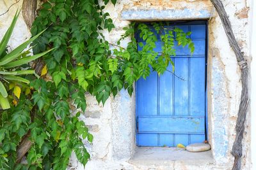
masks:
{"type": "Polygon", "coordinates": [[[188,71],[188,58],[176,58],[175,74],[184,78],[184,80],[180,80],[179,78],[175,77],[175,115],[188,115],[188,71]]]}

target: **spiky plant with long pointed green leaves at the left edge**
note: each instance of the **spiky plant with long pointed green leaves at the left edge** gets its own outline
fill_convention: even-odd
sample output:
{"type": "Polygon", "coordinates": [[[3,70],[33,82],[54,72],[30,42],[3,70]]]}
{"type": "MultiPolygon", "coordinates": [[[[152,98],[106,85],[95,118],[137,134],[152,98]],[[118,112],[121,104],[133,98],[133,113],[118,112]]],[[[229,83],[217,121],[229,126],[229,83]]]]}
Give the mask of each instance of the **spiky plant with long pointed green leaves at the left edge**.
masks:
{"type": "Polygon", "coordinates": [[[15,13],[12,24],[4,34],[3,39],[0,43],[0,105],[3,110],[10,108],[10,103],[8,101],[8,92],[6,90],[6,87],[8,87],[10,81],[28,84],[29,80],[27,80],[26,78],[22,78],[22,75],[35,74],[34,70],[22,69],[22,65],[28,64],[32,60],[38,59],[42,55],[45,55],[45,53],[51,51],[47,50],[45,52],[38,53],[32,56],[28,56],[30,49],[24,51],[24,49],[32,41],[34,41],[36,38],[38,38],[38,36],[40,36],[40,34],[44,32],[42,31],[36,36],[30,38],[28,41],[19,45],[17,48],[12,50],[12,52],[6,52],[7,43],[10,40],[10,36],[12,35],[13,29],[19,17],[19,13],[20,11],[17,11],[15,13]]]}

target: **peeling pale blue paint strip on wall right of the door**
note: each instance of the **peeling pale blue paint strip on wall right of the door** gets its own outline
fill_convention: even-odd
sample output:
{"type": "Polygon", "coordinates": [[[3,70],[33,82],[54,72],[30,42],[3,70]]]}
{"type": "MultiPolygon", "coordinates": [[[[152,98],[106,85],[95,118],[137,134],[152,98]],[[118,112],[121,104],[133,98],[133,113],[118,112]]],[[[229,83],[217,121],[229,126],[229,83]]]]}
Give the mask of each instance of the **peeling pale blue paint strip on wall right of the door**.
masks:
{"type": "MultiPolygon", "coordinates": [[[[219,55],[219,54],[217,54],[219,55]]],[[[227,92],[227,81],[225,81],[225,72],[223,63],[219,57],[212,57],[212,148],[214,148],[214,158],[219,162],[227,162],[228,138],[226,133],[225,120],[228,117],[228,107],[225,103],[225,95],[227,92]],[[225,87],[225,88],[223,88],[225,87]]]]}

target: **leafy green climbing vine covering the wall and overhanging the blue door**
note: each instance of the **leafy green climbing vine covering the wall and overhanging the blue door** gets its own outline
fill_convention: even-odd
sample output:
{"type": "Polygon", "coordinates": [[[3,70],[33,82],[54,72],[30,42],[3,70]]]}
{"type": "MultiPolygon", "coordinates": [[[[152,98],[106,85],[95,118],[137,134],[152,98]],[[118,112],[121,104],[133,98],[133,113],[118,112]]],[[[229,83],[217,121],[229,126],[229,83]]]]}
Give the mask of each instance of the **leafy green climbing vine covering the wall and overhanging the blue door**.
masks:
{"type": "MultiPolygon", "coordinates": [[[[115,5],[116,1],[104,0],[108,3],[115,5]]],[[[170,56],[175,56],[175,41],[194,51],[191,32],[167,29],[161,23],[131,23],[111,44],[102,31],[110,32],[115,25],[103,9],[104,5],[94,0],[49,0],[40,7],[31,33],[35,36],[46,31],[33,41],[33,53],[54,50],[42,58],[41,78],[31,77],[30,92],[20,94],[17,106],[1,111],[3,169],[66,169],[72,151],[85,165],[90,154],[84,144],[92,143],[93,136],[79,120],[86,110],[84,94],[90,93],[102,104],[123,88],[131,96],[134,81],[147,78],[150,66],[158,74],[169,64],[174,70],[170,56]],[[145,42],[139,43],[140,51],[134,38],[136,30],[145,42]],[[164,32],[160,55],[154,52],[155,31],[164,32]],[[127,38],[131,41],[122,46],[127,38]],[[17,117],[21,113],[22,119],[17,117]],[[28,164],[20,163],[24,156],[28,164]]]]}

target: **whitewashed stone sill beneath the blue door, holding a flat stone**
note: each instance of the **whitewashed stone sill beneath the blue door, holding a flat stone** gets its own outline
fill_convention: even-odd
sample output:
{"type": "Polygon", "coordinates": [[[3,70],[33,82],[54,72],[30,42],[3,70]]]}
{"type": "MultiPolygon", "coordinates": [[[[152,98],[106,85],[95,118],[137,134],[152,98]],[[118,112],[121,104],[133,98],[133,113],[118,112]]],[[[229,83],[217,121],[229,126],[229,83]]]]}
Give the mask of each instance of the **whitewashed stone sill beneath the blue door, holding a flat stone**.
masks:
{"type": "Polygon", "coordinates": [[[129,163],[140,166],[174,166],[182,163],[193,166],[214,164],[211,150],[206,152],[188,152],[175,147],[138,147],[129,163]]]}

